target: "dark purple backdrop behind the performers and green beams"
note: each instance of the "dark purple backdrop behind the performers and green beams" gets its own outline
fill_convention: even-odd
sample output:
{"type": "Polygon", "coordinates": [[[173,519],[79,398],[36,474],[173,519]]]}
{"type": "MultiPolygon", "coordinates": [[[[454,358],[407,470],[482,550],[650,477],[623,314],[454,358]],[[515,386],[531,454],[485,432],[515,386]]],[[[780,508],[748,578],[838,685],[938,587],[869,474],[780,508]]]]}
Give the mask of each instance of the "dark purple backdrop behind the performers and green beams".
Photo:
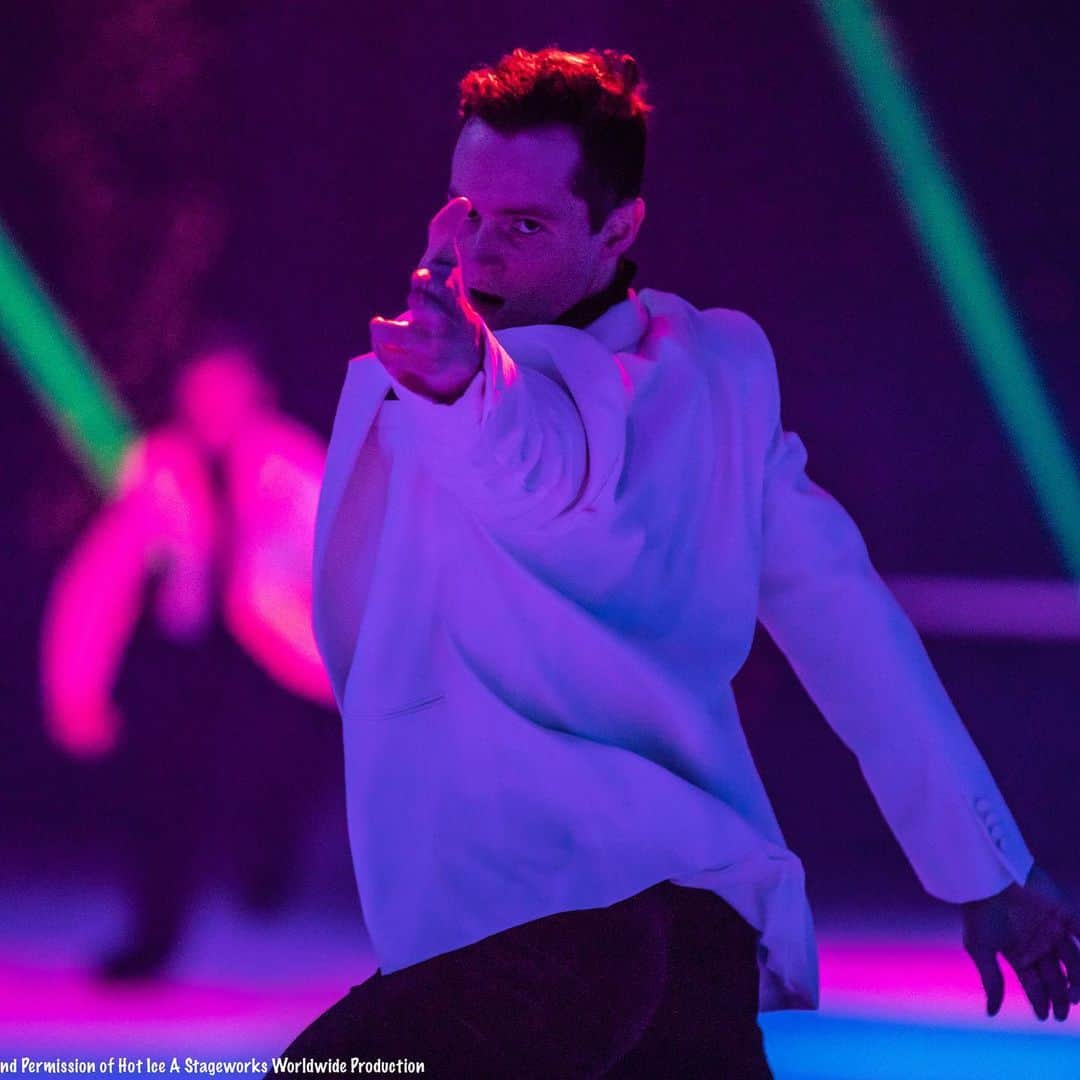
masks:
{"type": "MultiPolygon", "coordinates": [[[[613,46],[656,106],[637,286],[764,325],[785,423],[882,572],[1064,576],[812,4],[362,6],[5,11],[0,216],[140,422],[164,415],[191,336],[226,320],[285,409],[328,435],[346,360],[372,314],[403,307],[442,201],[457,79],[516,44],[613,46]]],[[[881,6],[1076,445],[1070,9],[881,6]]],[[[0,876],[95,873],[123,824],[93,813],[111,781],[45,742],[36,649],[96,496],[11,364],[0,431],[0,876]]],[[[1037,858],[1080,887],[1076,643],[928,647],[1037,858]]],[[[767,639],[737,689],[811,900],[931,903],[767,639]]],[[[353,912],[336,723],[313,724],[312,783],[324,887],[353,912]]],[[[249,754],[257,772],[255,739],[249,754]]]]}

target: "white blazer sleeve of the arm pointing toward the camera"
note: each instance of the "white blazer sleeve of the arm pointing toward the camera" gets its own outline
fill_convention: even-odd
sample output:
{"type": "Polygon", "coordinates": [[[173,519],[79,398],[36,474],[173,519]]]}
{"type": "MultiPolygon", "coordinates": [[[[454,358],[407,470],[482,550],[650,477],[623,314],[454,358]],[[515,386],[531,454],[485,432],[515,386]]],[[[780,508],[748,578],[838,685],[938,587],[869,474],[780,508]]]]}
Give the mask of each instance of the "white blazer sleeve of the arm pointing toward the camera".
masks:
{"type": "Polygon", "coordinates": [[[487,330],[484,366],[450,404],[391,381],[424,464],[485,524],[534,529],[610,497],[625,395],[615,356],[584,332],[487,330]]]}

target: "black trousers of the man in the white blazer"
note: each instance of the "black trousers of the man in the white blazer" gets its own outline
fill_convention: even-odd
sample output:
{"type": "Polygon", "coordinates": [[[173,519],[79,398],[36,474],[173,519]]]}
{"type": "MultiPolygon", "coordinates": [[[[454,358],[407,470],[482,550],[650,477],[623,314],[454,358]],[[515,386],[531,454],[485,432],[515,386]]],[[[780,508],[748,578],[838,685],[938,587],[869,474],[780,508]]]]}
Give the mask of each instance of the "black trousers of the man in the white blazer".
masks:
{"type": "Polygon", "coordinates": [[[661,881],[376,971],[283,1056],[346,1075],[366,1075],[352,1058],[405,1058],[436,1078],[768,1080],[758,936],[715,893],[661,881]]]}

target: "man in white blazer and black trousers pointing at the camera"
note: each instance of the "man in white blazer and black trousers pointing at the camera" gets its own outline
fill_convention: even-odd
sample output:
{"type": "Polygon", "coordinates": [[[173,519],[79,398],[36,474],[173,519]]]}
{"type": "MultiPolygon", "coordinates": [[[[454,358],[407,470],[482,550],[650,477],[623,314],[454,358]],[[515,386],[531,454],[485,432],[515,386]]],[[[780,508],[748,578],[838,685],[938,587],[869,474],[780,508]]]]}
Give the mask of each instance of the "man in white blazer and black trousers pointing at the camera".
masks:
{"type": "Polygon", "coordinates": [[[1080,916],[780,424],[745,315],[631,289],[645,104],[611,52],[461,84],[450,201],[372,321],[320,499],[314,618],[379,971],[289,1056],[446,1076],[769,1076],[814,1008],[802,868],[730,680],[760,618],[923,886],[1036,1012],[1080,916]]]}

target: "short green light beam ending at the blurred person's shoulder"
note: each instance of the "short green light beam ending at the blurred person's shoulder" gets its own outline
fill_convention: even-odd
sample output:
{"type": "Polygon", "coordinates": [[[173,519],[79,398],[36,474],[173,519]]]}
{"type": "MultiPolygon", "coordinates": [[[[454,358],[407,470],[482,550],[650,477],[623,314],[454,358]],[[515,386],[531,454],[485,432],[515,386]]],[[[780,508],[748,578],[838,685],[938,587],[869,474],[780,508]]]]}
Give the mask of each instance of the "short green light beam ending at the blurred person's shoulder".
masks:
{"type": "Polygon", "coordinates": [[[135,424],[0,222],[0,337],[65,442],[111,488],[135,424]]]}

